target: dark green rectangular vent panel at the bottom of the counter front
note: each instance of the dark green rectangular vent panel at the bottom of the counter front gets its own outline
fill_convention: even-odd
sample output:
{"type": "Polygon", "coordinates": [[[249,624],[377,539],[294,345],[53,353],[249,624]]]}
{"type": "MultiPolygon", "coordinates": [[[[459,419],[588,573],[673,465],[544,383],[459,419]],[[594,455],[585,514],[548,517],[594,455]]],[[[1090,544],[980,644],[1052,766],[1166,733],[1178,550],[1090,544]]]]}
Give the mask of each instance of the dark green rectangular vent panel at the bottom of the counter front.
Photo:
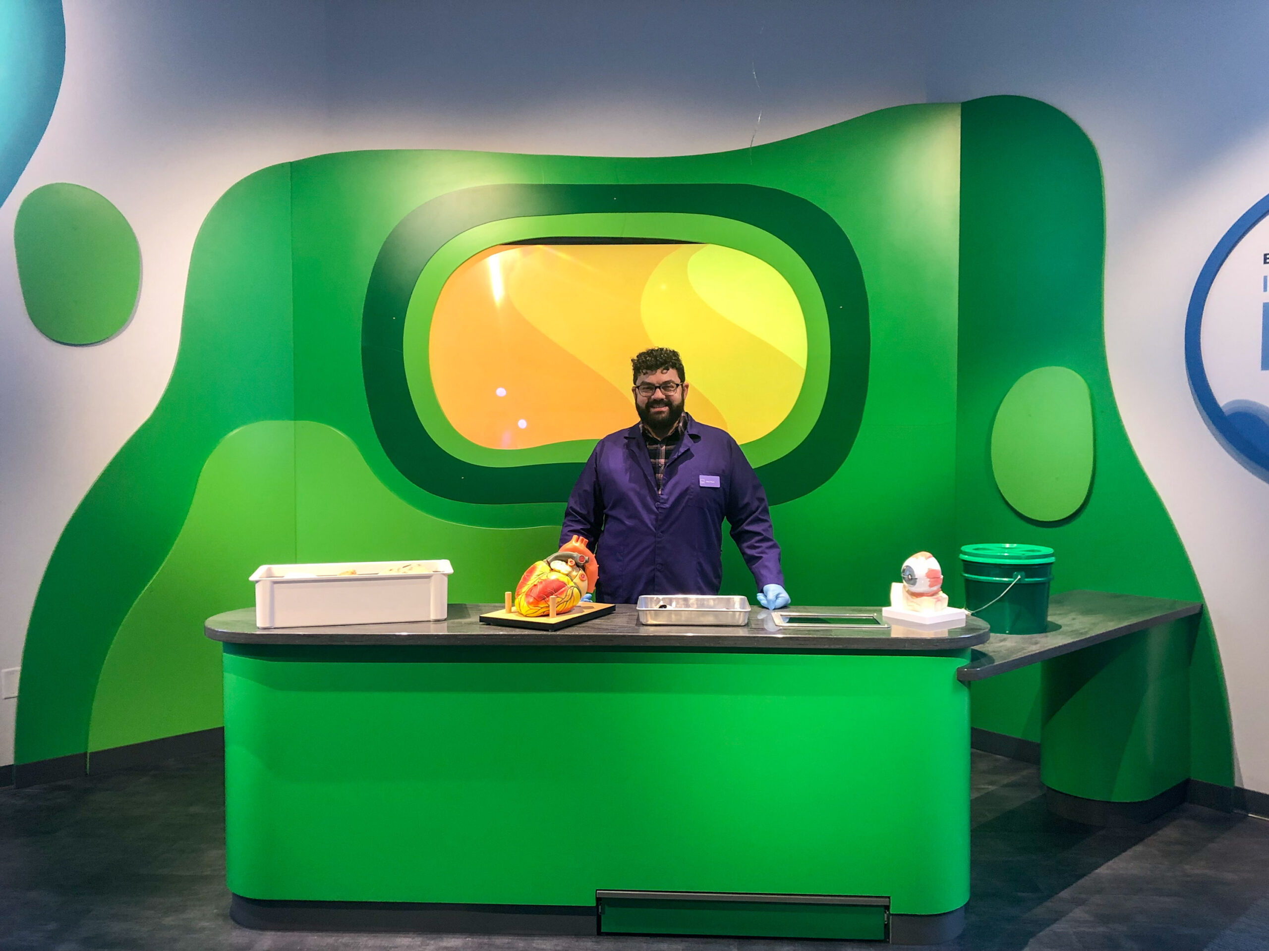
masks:
{"type": "Polygon", "coordinates": [[[884,941],[888,898],[596,891],[602,935],[884,941]]]}

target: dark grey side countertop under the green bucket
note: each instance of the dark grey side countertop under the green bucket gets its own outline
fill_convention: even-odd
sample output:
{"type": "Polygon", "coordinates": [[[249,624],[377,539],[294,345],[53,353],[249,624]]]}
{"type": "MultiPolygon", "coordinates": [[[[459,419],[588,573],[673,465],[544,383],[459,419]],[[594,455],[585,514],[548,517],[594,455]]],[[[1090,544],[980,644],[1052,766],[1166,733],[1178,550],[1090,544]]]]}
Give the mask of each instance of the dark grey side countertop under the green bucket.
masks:
{"type": "Polygon", "coordinates": [[[968,666],[957,671],[962,681],[983,680],[997,673],[1061,657],[1103,640],[1122,638],[1156,624],[1198,614],[1198,601],[1166,597],[1112,595],[1105,591],[1063,591],[1048,602],[1049,628],[1044,634],[995,634],[977,648],[968,666]]]}

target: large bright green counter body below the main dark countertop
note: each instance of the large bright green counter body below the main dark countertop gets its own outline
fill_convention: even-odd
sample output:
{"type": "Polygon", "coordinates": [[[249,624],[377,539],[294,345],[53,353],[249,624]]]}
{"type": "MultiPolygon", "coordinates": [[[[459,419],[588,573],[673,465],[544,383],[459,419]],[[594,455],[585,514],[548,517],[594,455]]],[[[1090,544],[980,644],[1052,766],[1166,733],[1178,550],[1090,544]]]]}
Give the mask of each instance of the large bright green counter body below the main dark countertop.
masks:
{"type": "MultiPolygon", "coordinates": [[[[444,630],[472,612],[452,606],[444,630]]],[[[453,929],[510,915],[520,933],[959,931],[970,708],[954,639],[397,637],[225,644],[228,885],[244,923],[400,903],[453,929]]]]}

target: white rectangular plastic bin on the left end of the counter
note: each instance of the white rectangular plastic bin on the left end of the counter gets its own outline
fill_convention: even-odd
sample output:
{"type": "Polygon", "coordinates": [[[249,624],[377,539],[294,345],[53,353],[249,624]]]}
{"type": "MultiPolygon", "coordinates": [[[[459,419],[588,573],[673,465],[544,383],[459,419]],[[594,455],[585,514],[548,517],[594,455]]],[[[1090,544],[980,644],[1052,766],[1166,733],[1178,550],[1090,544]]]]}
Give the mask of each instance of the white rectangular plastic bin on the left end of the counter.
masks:
{"type": "Polygon", "coordinates": [[[261,564],[255,582],[255,626],[324,628],[332,624],[443,621],[447,559],[261,564]],[[407,569],[409,571],[405,571],[407,569]],[[355,572],[355,573],[354,573],[355,572]]]}

